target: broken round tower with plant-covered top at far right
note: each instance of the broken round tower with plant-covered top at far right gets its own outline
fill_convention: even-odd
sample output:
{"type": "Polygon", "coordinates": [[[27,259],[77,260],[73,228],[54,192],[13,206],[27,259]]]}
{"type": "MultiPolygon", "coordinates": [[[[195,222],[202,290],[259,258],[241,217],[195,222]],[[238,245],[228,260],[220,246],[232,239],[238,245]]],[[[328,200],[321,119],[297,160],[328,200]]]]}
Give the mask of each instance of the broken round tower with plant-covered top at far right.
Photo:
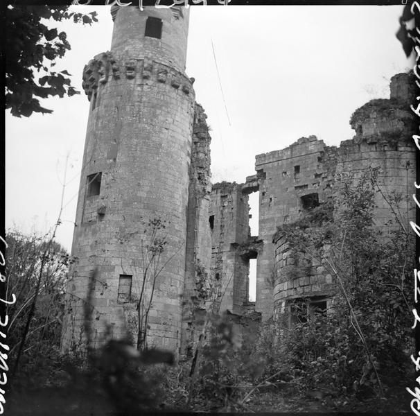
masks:
{"type": "MultiPolygon", "coordinates": [[[[338,148],[338,175],[350,175],[356,182],[362,172],[376,172],[374,222],[387,234],[403,227],[410,232],[416,207],[412,184],[416,180],[416,117],[410,110],[415,101],[412,72],[391,78],[390,98],[371,100],[350,119],[356,135],[338,148]]],[[[337,186],[336,186],[337,187],[337,186]]]]}

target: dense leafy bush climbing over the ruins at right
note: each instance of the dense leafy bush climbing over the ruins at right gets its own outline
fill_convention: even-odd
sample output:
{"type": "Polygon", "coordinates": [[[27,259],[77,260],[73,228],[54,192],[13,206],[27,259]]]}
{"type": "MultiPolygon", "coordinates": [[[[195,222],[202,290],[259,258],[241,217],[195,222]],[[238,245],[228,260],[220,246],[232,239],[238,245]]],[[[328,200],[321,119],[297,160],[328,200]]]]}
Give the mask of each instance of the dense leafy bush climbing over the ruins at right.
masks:
{"type": "MultiPolygon", "coordinates": [[[[279,230],[291,250],[331,273],[338,295],[326,315],[315,314],[292,330],[278,323],[275,349],[284,354],[273,358],[265,375],[283,367],[289,386],[319,390],[322,397],[341,401],[383,396],[403,385],[411,342],[407,300],[414,250],[399,218],[390,236],[374,225],[376,191],[376,174],[367,171],[356,183],[342,183],[335,220],[331,202],[326,202],[279,230]]],[[[395,212],[401,200],[395,196],[389,201],[395,212]]],[[[273,331],[269,338],[274,339],[273,331]]]]}

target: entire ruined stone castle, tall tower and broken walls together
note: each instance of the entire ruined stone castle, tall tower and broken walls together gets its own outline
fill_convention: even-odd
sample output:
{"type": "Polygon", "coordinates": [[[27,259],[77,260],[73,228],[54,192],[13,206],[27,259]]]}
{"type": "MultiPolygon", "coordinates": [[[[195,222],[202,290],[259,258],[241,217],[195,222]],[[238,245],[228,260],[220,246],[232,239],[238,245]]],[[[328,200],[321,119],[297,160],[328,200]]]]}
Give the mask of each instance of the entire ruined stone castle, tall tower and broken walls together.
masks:
{"type": "MultiPolygon", "coordinates": [[[[338,175],[364,168],[378,168],[386,192],[410,193],[410,76],[392,78],[390,99],[356,110],[356,135],[339,147],[302,137],[256,155],[256,173],[243,184],[211,184],[206,115],[195,101],[193,78],[184,73],[189,10],[113,6],[112,17],[110,51],[96,55],[83,71],[90,110],[63,349],[85,336],[88,295],[96,345],[109,334],[121,338],[131,332],[136,338],[144,253],[150,222],[157,219],[166,241],[148,315],[149,345],[185,352],[194,339],[194,308],[202,306],[209,284],[217,286],[213,295],[220,311],[254,310],[263,320],[276,318],[297,297],[328,304],[335,289],[322,268],[284,279],[282,269],[291,261],[277,227],[330,198],[338,175]],[[254,192],[258,236],[249,227],[248,196],[254,192]],[[255,302],[249,301],[250,259],[257,262],[255,302]]],[[[376,202],[377,223],[385,227],[392,213],[380,196],[376,202]]],[[[413,216],[414,204],[407,202],[403,217],[413,216]]],[[[150,284],[147,291],[150,296],[150,284]]]]}

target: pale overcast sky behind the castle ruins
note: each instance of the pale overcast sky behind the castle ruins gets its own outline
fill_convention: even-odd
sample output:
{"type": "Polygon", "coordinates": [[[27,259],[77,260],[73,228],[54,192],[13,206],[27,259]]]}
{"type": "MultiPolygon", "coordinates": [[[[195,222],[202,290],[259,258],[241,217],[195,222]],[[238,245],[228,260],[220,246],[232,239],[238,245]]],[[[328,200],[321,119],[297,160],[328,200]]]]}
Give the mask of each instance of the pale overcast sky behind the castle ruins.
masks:
{"type": "MultiPolygon", "coordinates": [[[[79,8],[97,10],[99,23],[62,25],[72,50],[56,68],[73,74],[82,92],[84,65],[110,49],[112,19],[108,6],[79,8]]],[[[394,35],[402,8],[192,6],[186,73],[195,78],[196,99],[212,128],[213,182],[244,182],[255,173],[255,155],[302,136],[329,145],[351,139],[351,113],[372,98],[387,98],[390,77],[412,67],[394,35]]],[[[44,105],[53,114],[6,114],[6,227],[46,232],[53,226],[69,155],[58,241],[70,250],[88,101],[82,92],[44,105]]]]}

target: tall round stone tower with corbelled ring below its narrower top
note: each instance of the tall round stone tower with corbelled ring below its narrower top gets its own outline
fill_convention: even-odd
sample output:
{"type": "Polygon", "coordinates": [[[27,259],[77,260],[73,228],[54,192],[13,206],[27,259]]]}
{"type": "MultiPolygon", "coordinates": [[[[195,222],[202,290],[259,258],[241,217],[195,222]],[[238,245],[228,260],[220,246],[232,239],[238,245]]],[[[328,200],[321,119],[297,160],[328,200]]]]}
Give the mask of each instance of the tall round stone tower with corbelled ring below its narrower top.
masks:
{"type": "Polygon", "coordinates": [[[143,312],[150,305],[148,346],[175,351],[195,103],[193,79],[184,73],[189,10],[113,6],[111,12],[111,51],[83,71],[90,110],[62,349],[127,333],[135,344],[142,297],[143,312]],[[166,243],[143,285],[154,232],[166,243]]]}

